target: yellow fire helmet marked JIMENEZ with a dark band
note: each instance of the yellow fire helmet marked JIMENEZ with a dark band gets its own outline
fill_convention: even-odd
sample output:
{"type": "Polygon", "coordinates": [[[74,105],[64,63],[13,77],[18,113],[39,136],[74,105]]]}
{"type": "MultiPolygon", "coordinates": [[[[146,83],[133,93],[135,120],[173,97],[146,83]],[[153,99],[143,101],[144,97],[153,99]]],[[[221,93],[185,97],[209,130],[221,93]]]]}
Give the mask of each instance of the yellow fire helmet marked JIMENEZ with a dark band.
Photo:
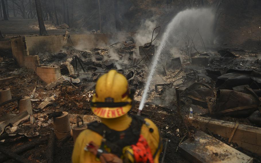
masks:
{"type": "Polygon", "coordinates": [[[97,81],[91,110],[101,118],[117,118],[131,110],[132,101],[127,79],[117,71],[110,70],[97,81]]]}

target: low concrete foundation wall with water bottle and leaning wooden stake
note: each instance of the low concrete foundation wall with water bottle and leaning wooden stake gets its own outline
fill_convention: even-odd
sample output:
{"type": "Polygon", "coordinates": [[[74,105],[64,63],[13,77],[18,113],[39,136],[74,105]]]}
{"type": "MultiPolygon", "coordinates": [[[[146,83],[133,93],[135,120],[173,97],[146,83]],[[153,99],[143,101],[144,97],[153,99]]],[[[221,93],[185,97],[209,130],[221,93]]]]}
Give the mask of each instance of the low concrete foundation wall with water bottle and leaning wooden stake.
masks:
{"type": "MultiPolygon", "coordinates": [[[[188,125],[200,129],[204,132],[209,130],[213,134],[220,135],[221,137],[229,138],[235,123],[221,121],[217,119],[196,117],[196,118],[185,118],[188,125]]],[[[261,156],[261,128],[239,124],[237,130],[232,138],[233,143],[237,143],[239,147],[245,150],[249,150],[261,156]]]]}

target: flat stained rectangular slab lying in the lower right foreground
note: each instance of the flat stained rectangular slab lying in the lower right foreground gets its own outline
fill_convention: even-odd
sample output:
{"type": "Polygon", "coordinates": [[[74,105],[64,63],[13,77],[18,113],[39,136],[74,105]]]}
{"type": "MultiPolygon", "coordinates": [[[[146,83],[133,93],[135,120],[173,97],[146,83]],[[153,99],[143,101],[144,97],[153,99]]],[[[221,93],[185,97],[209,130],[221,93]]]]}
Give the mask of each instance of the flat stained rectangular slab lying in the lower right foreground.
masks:
{"type": "Polygon", "coordinates": [[[191,162],[253,162],[253,158],[202,131],[197,131],[193,140],[189,138],[182,142],[179,147],[181,154],[191,162]]]}

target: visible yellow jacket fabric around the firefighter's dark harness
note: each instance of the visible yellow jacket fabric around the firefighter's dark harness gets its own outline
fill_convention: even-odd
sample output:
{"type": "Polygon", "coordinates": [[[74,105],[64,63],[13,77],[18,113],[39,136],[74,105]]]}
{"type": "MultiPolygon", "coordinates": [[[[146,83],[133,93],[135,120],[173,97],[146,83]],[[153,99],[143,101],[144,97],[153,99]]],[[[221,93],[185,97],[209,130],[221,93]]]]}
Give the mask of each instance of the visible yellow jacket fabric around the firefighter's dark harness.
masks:
{"type": "MultiPolygon", "coordinates": [[[[127,115],[119,117],[117,120],[113,119],[102,119],[102,123],[104,123],[106,126],[108,126],[110,129],[116,130],[116,131],[123,131],[129,127],[131,124],[132,119],[128,117],[127,115]],[[119,119],[120,118],[120,119],[119,119]]],[[[141,127],[141,135],[147,140],[147,143],[150,147],[152,155],[155,154],[157,151],[157,154],[155,154],[154,162],[159,162],[159,155],[161,153],[162,143],[161,143],[161,137],[159,134],[159,130],[157,126],[149,119],[145,119],[145,121],[149,124],[149,126],[143,124],[141,127]],[[149,132],[149,129],[152,128],[153,132],[149,132]]],[[[74,149],[73,149],[73,155],[72,155],[72,162],[73,163],[96,163],[100,162],[94,154],[87,152],[84,150],[86,147],[86,144],[88,144],[90,141],[93,141],[97,145],[101,145],[102,136],[98,133],[91,131],[91,130],[84,130],[80,133],[80,135],[77,137],[74,149]]]]}

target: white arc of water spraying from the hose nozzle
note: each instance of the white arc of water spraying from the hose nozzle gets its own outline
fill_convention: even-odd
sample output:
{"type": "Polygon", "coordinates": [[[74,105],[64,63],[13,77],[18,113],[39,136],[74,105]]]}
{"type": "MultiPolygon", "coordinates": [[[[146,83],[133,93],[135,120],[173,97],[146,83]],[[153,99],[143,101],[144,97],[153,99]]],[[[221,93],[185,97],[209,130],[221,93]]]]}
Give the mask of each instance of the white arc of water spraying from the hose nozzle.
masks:
{"type": "Polygon", "coordinates": [[[149,72],[149,76],[145,84],[139,110],[143,109],[144,104],[147,100],[149,86],[163,49],[166,47],[173,46],[171,45],[171,42],[168,41],[168,39],[184,36],[184,34],[186,34],[187,32],[196,31],[197,28],[203,32],[202,33],[203,37],[204,36],[208,37],[212,34],[211,29],[212,29],[213,21],[214,21],[214,14],[211,11],[211,9],[187,9],[179,12],[172,19],[172,21],[168,24],[166,31],[164,32],[163,37],[161,38],[160,45],[157,48],[157,52],[153,57],[152,66],[150,68],[151,71],[149,72]]]}

